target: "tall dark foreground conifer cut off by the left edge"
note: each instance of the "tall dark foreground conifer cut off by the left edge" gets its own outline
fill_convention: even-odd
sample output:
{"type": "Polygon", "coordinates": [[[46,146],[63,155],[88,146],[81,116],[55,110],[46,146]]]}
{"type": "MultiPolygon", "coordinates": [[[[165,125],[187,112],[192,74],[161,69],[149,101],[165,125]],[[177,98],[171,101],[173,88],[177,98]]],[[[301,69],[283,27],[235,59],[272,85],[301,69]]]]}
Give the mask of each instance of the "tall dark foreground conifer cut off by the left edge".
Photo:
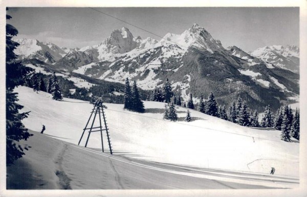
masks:
{"type": "MultiPolygon", "coordinates": [[[[8,8],[7,8],[8,10],[8,8]]],[[[6,15],[9,20],[11,16],[6,15]]],[[[26,67],[17,61],[14,49],[19,45],[12,40],[18,31],[11,24],[6,23],[6,165],[9,166],[23,155],[24,146],[18,144],[20,140],[27,140],[32,134],[28,132],[21,120],[29,115],[29,112],[19,113],[24,106],[17,104],[17,94],[13,92],[18,85],[25,83],[24,79],[32,68],[26,67]]]]}

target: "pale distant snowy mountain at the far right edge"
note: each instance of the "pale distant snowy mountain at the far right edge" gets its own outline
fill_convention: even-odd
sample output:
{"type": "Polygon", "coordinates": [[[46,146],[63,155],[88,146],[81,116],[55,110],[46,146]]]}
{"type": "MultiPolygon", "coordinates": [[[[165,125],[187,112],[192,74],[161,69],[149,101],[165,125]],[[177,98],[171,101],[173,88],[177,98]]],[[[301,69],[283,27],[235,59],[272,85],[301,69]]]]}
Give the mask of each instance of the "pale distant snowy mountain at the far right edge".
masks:
{"type": "Polygon", "coordinates": [[[250,52],[250,55],[270,62],[277,67],[299,73],[299,48],[297,46],[265,46],[250,52]]]}

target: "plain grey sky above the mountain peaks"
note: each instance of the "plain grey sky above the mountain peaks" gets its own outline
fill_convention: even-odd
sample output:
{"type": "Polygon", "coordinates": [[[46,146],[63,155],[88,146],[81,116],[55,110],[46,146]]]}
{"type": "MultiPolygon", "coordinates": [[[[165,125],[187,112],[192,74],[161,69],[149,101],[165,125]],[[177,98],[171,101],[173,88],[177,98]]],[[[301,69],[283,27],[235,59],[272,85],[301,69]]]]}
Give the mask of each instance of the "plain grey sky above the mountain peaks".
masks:
{"type": "MultiPolygon", "coordinates": [[[[266,45],[299,46],[299,8],[96,8],[163,37],[181,34],[198,23],[223,46],[249,52],[266,45]]],[[[18,38],[34,38],[58,46],[98,44],[113,29],[127,27],[134,37],[161,38],[90,8],[10,8],[7,20],[18,38]]]]}

